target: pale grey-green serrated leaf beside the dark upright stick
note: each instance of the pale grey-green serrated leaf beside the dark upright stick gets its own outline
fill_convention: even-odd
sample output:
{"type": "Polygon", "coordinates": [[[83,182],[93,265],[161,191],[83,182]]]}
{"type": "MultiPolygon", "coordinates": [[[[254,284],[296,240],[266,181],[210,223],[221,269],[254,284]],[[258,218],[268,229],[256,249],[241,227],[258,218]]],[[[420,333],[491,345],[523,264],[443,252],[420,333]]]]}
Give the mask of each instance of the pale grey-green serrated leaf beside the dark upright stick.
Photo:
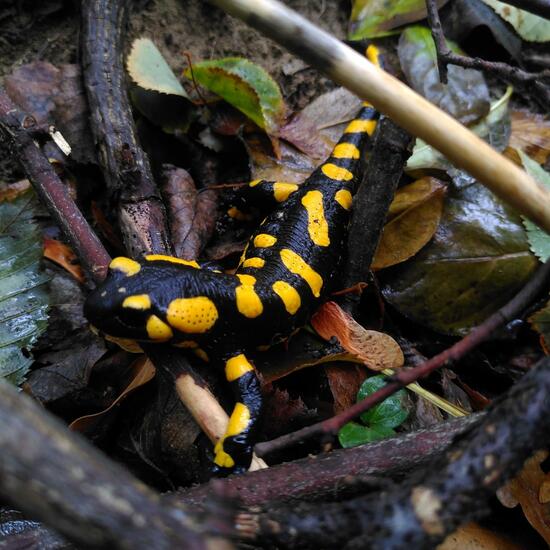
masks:
{"type": "Polygon", "coordinates": [[[148,38],[134,40],[126,67],[130,77],[140,88],[187,98],[176,75],[148,38]]]}

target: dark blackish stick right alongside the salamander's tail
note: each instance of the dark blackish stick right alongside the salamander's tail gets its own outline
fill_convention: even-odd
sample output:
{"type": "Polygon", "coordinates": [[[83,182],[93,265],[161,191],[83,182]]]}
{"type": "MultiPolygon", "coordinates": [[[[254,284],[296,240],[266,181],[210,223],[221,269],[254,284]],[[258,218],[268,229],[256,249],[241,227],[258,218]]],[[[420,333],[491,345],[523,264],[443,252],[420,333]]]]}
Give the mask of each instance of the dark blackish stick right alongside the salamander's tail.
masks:
{"type": "MultiPolygon", "coordinates": [[[[344,288],[368,280],[388,208],[410,155],[410,142],[410,134],[390,119],[383,117],[379,122],[363,182],[353,198],[344,288]]],[[[346,294],[344,309],[353,315],[359,300],[356,293],[346,294]]]]}

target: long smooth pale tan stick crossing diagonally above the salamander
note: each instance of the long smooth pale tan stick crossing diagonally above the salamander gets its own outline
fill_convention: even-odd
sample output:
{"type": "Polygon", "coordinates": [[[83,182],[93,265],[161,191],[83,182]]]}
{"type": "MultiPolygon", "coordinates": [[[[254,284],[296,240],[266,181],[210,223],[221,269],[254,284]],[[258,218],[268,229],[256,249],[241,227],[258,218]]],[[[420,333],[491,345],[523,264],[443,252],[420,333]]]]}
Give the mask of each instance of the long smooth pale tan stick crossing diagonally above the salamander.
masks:
{"type": "Polygon", "coordinates": [[[550,232],[550,191],[459,122],[275,0],[210,0],[423,139],[550,232]]]}

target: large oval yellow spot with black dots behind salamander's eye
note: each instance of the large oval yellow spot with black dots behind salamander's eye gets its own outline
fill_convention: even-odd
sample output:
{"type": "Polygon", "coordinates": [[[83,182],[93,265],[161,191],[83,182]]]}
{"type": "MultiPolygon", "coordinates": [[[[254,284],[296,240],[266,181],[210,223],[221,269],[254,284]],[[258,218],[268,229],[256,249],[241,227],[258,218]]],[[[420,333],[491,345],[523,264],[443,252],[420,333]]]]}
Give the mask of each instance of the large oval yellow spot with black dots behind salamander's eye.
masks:
{"type": "Polygon", "coordinates": [[[181,332],[202,334],[218,320],[216,304],[206,296],[176,298],[166,310],[166,320],[181,332]]]}

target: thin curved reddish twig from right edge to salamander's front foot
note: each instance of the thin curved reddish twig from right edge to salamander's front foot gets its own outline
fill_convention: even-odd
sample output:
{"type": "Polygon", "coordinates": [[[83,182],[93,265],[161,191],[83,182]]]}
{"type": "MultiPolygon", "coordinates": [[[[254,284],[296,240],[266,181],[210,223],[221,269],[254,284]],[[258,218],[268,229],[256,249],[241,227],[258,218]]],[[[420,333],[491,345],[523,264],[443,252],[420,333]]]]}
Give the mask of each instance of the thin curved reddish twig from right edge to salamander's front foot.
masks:
{"type": "Polygon", "coordinates": [[[344,425],[359,416],[361,413],[374,407],[402,387],[427,376],[434,370],[451,364],[453,361],[461,359],[466,353],[487,340],[489,336],[500,326],[510,322],[529,305],[547,284],[550,276],[550,260],[543,264],[529,282],[510,300],[493,313],[481,325],[477,326],[459,340],[456,344],[445,351],[435,355],[428,361],[418,367],[401,370],[398,374],[389,378],[389,383],[382,389],[366,397],[363,401],[356,403],[341,414],[333,416],[328,420],[313,424],[307,428],[302,428],[296,432],[283,435],[272,441],[258,443],[255,447],[258,456],[267,455],[273,451],[283,449],[304,439],[317,435],[334,435],[344,425]]]}

